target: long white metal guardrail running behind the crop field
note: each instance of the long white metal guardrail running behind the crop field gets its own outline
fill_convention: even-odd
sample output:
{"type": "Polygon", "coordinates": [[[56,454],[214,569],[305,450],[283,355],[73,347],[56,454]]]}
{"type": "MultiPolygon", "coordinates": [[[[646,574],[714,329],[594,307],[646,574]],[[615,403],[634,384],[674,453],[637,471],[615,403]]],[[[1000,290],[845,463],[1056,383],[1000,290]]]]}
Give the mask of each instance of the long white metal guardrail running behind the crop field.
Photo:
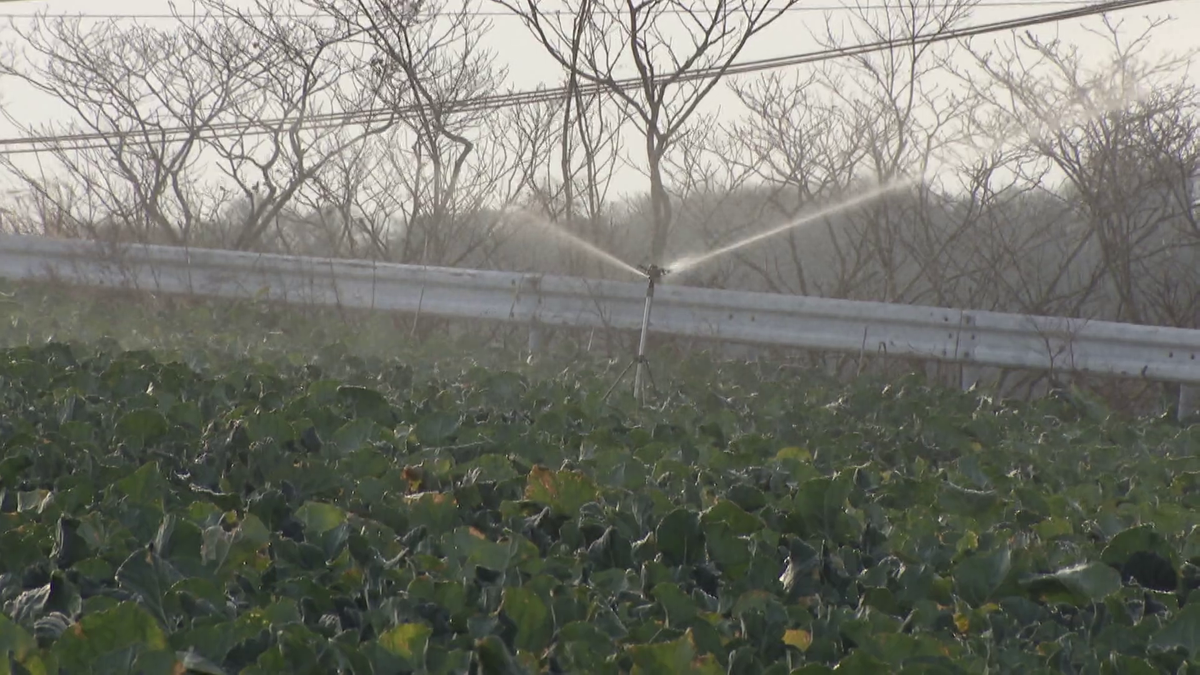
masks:
{"type": "MultiPolygon", "coordinates": [[[[270,298],[533,327],[641,328],[646,282],[0,234],[0,276],[270,298]]],[[[650,330],[965,366],[1200,384],[1200,330],[1061,317],[655,287],[650,330]]]]}

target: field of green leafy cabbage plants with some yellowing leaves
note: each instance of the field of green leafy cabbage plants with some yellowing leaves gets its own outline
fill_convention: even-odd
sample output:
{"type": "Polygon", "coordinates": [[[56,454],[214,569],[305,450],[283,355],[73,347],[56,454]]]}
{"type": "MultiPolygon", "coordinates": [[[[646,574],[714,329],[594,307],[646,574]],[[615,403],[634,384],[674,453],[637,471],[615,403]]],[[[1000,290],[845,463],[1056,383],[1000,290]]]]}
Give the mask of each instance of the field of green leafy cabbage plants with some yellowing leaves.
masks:
{"type": "Polygon", "coordinates": [[[1200,668],[1200,430],[1080,392],[0,307],[0,673],[1200,668]]]}

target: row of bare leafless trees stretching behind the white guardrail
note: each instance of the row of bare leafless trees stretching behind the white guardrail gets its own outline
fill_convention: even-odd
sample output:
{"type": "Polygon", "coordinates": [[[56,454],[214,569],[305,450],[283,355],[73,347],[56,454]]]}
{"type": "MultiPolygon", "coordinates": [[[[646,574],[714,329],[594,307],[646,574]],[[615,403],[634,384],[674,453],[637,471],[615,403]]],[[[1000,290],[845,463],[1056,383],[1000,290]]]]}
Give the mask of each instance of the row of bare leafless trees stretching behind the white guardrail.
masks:
{"type": "Polygon", "coordinates": [[[666,263],[910,181],[686,281],[1200,325],[1200,92],[1189,54],[1151,54],[1163,22],[1094,19],[1086,58],[1031,34],[914,46],[974,1],[886,0],[814,32],[890,49],[721,77],[799,4],[492,5],[565,96],[496,106],[505,72],[466,4],[14,23],[0,71],[73,113],[28,133],[83,136],[4,155],[5,227],[628,277],[551,229],[666,263]],[[708,113],[719,89],[740,107],[708,113]],[[619,171],[642,196],[614,196],[619,171]]]}

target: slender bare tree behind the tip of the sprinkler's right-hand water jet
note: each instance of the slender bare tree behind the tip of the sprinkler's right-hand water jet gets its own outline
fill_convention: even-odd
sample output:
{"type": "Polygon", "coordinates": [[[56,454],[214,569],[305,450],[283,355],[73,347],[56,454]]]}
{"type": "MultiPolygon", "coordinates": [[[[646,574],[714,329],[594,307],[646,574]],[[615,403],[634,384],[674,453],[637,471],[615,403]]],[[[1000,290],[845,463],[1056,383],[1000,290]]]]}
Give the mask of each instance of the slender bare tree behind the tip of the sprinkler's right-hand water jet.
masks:
{"type": "Polygon", "coordinates": [[[938,155],[962,133],[965,104],[938,84],[950,46],[916,43],[918,36],[941,35],[966,22],[976,0],[887,0],[869,11],[860,4],[847,19],[848,31],[826,23],[822,43],[835,47],[848,32],[857,42],[886,42],[893,47],[850,59],[848,77],[827,67],[824,80],[835,100],[859,117],[865,135],[863,177],[888,184],[904,177],[923,177],[912,198],[878,199],[847,214],[852,237],[865,240],[866,283],[886,301],[943,301],[953,291],[943,273],[947,249],[968,223],[954,221],[938,193],[938,180],[929,173],[938,155]]]}

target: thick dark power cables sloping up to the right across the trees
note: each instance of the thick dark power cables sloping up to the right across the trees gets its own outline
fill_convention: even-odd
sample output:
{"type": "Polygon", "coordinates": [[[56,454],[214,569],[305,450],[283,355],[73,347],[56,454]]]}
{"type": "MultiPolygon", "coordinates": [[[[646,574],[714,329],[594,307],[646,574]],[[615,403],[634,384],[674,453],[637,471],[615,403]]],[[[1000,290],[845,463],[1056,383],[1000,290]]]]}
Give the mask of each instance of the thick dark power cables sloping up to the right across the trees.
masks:
{"type": "MultiPolygon", "coordinates": [[[[932,44],[936,42],[962,40],[991,32],[1032,28],[1049,23],[1086,18],[1090,16],[1102,14],[1106,12],[1117,12],[1136,7],[1148,7],[1152,5],[1160,5],[1163,2],[1169,2],[1169,1],[1171,0],[1108,0],[1105,2],[1097,2],[1093,5],[1088,5],[1086,7],[1062,10],[1058,12],[1048,12],[1043,14],[1031,14],[1016,19],[990,22],[985,24],[947,30],[942,32],[918,35],[904,40],[881,40],[876,42],[854,44],[851,47],[836,47],[833,49],[822,49],[818,52],[794,54],[791,56],[757,59],[751,61],[743,61],[740,64],[734,64],[727,68],[720,68],[720,67],[697,68],[696,71],[683,73],[682,76],[660,76],[655,78],[655,83],[661,83],[667,79],[672,79],[673,82],[690,82],[696,79],[706,79],[714,76],[746,74],[766,70],[775,70],[787,66],[806,65],[806,64],[828,61],[846,56],[869,54],[872,52],[881,52],[884,49],[890,49],[896,47],[932,44]]],[[[640,88],[641,85],[642,80],[640,78],[624,78],[624,79],[613,79],[604,83],[588,83],[580,85],[578,89],[581,94],[590,96],[590,95],[604,94],[606,90],[610,89],[628,90],[628,89],[640,88]]],[[[511,106],[528,106],[528,104],[553,102],[557,100],[562,100],[568,95],[568,92],[569,90],[566,88],[538,89],[533,91],[517,91],[509,94],[497,94],[491,96],[478,96],[473,98],[464,98],[461,101],[440,101],[437,104],[442,106],[445,109],[450,109],[452,112],[480,112],[480,110],[499,109],[511,106]]],[[[419,104],[401,106],[394,108],[371,108],[366,110],[348,112],[348,113],[325,113],[320,115],[310,117],[307,120],[304,121],[301,126],[306,129],[319,130],[319,129],[334,129],[338,126],[348,126],[352,124],[370,124],[379,119],[395,119],[396,117],[413,114],[427,107],[428,107],[427,104],[419,103],[419,104]]],[[[253,126],[271,127],[271,126],[282,126],[284,124],[294,125],[296,124],[296,120],[294,119],[258,120],[253,124],[253,126]]],[[[118,131],[118,132],[101,132],[101,133],[76,133],[76,135],[37,136],[26,138],[6,138],[6,139],[0,139],[0,155],[42,153],[49,149],[58,149],[58,150],[98,149],[98,148],[106,148],[108,145],[108,143],[106,143],[107,141],[121,141],[124,143],[131,138],[134,141],[134,144],[137,144],[138,137],[152,137],[154,142],[167,142],[168,139],[170,139],[168,137],[175,137],[175,136],[184,136],[184,137],[192,136],[196,137],[196,139],[205,139],[205,138],[222,138],[230,136],[259,136],[275,132],[275,130],[271,129],[253,130],[253,129],[247,129],[248,126],[250,125],[245,123],[220,123],[220,124],[208,125],[202,129],[164,127],[158,130],[140,130],[140,131],[124,131],[124,132],[118,131]],[[233,132],[233,133],[221,133],[221,132],[233,132]],[[13,148],[18,145],[29,145],[29,148],[13,148]],[[50,148],[37,148],[37,145],[49,145],[50,148]]],[[[149,143],[149,141],[146,143],[149,143]]]]}

